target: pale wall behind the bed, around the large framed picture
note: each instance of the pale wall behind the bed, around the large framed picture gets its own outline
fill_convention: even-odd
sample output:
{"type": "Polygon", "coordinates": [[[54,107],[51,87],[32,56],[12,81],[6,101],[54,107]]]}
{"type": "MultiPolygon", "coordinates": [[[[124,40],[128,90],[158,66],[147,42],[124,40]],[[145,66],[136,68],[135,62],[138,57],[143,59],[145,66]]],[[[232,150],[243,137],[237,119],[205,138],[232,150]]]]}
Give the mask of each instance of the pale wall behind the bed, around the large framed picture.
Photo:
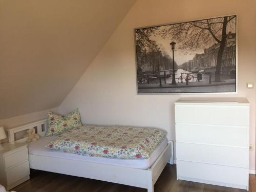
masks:
{"type": "MultiPolygon", "coordinates": [[[[159,127],[174,138],[174,102],[181,97],[246,97],[250,107],[250,143],[255,145],[256,3],[248,0],[139,0],[123,19],[91,66],[59,107],[79,108],[82,122],[159,127]],[[183,20],[238,14],[238,94],[137,95],[133,29],[183,20]]],[[[218,138],[216,138],[218,139],[218,138]]],[[[250,151],[255,168],[255,147],[250,151]]]]}

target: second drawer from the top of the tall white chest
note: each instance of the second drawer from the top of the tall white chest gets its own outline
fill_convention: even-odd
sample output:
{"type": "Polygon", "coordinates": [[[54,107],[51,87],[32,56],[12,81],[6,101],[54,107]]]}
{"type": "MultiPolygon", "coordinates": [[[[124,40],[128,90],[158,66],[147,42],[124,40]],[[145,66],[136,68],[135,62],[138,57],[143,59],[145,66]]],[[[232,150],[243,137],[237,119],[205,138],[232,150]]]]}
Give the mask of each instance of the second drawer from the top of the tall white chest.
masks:
{"type": "Polygon", "coordinates": [[[176,141],[249,147],[249,127],[176,123],[176,141]]]}

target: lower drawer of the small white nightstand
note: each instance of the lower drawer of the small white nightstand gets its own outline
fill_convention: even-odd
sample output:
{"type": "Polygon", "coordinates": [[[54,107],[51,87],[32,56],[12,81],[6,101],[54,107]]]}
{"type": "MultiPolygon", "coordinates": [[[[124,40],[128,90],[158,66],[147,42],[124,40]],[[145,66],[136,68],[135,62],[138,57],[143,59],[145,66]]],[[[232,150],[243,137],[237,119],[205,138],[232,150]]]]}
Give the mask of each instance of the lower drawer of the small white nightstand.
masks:
{"type": "Polygon", "coordinates": [[[11,167],[6,170],[7,184],[11,185],[11,184],[15,183],[16,181],[28,176],[29,174],[30,174],[30,172],[29,172],[29,162],[28,161],[26,161],[22,164],[19,164],[17,166],[11,167]]]}

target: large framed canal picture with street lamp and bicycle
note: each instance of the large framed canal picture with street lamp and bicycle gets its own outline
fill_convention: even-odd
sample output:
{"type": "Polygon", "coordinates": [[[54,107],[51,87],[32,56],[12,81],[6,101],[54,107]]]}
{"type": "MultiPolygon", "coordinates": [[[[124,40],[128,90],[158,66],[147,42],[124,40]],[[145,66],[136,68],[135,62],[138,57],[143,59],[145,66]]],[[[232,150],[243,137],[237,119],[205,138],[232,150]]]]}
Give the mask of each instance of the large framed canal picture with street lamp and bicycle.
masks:
{"type": "Polygon", "coordinates": [[[135,29],[137,93],[237,93],[237,15],[135,29]]]}

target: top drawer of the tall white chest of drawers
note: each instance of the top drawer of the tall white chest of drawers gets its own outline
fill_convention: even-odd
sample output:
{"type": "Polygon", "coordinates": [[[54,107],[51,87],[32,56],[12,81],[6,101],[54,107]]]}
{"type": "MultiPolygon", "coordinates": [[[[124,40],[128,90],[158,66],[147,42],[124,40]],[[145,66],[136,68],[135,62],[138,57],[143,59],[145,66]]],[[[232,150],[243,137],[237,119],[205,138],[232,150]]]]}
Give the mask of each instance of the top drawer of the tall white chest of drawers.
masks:
{"type": "Polygon", "coordinates": [[[249,126],[249,107],[244,105],[175,105],[175,122],[249,126]]]}

